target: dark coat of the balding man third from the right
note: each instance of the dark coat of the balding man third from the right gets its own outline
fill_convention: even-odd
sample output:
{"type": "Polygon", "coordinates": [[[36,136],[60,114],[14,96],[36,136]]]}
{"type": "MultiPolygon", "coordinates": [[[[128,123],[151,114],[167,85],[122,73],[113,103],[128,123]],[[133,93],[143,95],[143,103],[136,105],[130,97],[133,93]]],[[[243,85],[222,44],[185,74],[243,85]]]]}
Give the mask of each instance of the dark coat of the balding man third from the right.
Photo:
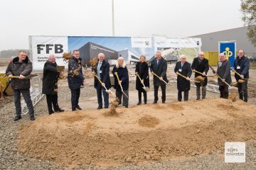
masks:
{"type": "MultiPolygon", "coordinates": [[[[201,62],[199,62],[199,57],[196,57],[193,59],[191,68],[196,69],[196,71],[198,71],[198,72],[201,72],[201,73],[205,72],[207,74],[209,71],[208,60],[206,58],[204,58],[201,62]]],[[[196,86],[206,86],[207,85],[207,77],[195,72],[195,77],[198,77],[198,76],[205,77],[205,79],[202,83],[195,83],[196,86]]]]}

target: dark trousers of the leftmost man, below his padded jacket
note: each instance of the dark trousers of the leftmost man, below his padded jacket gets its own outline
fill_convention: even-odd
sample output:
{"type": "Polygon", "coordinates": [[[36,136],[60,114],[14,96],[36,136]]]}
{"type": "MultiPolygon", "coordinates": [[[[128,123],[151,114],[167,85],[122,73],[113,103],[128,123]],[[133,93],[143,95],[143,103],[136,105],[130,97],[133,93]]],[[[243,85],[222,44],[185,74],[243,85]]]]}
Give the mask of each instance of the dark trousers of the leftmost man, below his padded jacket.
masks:
{"type": "Polygon", "coordinates": [[[28,107],[28,113],[32,117],[34,116],[33,103],[31,101],[29,89],[14,90],[14,105],[16,109],[16,116],[21,116],[21,94],[28,107]]]}

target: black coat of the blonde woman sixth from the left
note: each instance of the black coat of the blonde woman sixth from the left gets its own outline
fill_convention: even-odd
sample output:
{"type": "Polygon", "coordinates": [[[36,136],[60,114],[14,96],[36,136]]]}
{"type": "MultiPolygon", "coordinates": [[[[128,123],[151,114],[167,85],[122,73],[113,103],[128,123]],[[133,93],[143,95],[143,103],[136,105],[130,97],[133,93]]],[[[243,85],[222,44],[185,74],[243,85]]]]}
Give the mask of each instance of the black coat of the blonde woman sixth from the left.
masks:
{"type": "MultiPolygon", "coordinates": [[[[146,62],[137,62],[135,72],[139,73],[139,77],[144,80],[144,85],[149,87],[149,66],[146,62]]],[[[143,90],[143,85],[139,80],[139,77],[136,78],[136,89],[139,91],[143,90]]]]}

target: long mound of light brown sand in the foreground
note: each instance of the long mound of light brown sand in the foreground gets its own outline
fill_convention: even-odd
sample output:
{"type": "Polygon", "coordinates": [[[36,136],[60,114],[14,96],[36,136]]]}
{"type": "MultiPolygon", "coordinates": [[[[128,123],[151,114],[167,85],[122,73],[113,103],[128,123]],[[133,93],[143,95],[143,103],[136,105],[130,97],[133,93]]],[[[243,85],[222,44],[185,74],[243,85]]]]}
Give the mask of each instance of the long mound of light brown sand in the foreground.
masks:
{"type": "Polygon", "coordinates": [[[208,98],[159,105],[65,112],[23,125],[18,149],[59,165],[112,166],[223,151],[225,141],[256,141],[256,107],[208,98]],[[164,108],[164,109],[159,109],[164,108]]]}

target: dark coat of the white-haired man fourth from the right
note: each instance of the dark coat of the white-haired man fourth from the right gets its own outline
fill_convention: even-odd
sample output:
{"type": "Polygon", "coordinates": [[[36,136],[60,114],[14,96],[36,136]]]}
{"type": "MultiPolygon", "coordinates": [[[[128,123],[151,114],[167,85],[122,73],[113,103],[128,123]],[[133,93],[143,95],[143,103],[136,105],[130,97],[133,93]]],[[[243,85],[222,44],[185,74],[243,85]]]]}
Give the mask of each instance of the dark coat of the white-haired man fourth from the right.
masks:
{"type": "MultiPolygon", "coordinates": [[[[181,62],[176,62],[174,72],[179,72],[184,77],[191,77],[191,74],[192,74],[191,64],[189,62],[184,62],[183,67],[181,68],[181,62]]],[[[190,81],[184,79],[181,76],[177,76],[177,89],[179,91],[189,91],[190,81]]]]}

